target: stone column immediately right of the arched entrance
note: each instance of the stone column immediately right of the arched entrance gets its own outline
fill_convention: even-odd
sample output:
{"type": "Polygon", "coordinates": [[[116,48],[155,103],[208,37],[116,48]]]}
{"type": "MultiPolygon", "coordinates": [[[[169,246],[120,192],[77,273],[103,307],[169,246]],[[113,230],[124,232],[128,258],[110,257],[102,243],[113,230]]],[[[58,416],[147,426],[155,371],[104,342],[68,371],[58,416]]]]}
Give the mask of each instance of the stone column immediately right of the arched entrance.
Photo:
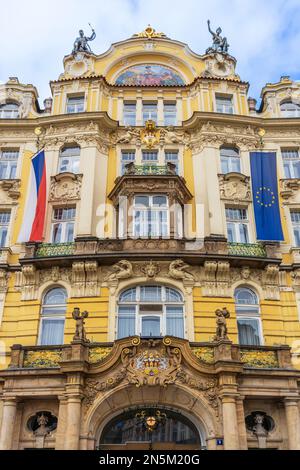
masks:
{"type": "Polygon", "coordinates": [[[235,397],[222,397],[224,450],[238,450],[239,431],[235,397]]]}

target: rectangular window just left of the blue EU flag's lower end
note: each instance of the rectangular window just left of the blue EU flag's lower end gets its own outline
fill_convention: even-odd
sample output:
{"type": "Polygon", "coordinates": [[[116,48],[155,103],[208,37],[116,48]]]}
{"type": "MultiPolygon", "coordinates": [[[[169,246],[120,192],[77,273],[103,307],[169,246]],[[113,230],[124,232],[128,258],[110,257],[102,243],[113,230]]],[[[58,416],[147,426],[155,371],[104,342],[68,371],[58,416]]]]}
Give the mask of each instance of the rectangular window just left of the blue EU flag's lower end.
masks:
{"type": "Polygon", "coordinates": [[[249,243],[247,209],[226,209],[229,243],[249,243]]]}

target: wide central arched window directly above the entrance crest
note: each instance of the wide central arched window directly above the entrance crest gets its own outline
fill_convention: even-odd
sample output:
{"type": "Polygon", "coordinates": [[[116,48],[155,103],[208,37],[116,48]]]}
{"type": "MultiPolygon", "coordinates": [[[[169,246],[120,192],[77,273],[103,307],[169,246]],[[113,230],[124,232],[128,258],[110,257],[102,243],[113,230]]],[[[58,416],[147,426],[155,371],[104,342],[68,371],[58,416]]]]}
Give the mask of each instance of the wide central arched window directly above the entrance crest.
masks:
{"type": "Polygon", "coordinates": [[[118,305],[118,338],[184,337],[183,297],[164,286],[137,286],[123,291],[118,305]]]}

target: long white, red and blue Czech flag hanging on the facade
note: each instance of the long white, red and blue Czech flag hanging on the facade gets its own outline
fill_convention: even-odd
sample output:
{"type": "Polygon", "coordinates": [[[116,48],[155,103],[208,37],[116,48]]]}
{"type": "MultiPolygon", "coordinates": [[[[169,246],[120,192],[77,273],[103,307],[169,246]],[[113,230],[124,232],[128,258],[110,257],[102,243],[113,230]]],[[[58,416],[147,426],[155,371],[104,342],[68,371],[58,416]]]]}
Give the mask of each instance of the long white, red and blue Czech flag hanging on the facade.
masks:
{"type": "Polygon", "coordinates": [[[41,150],[31,159],[27,199],[18,242],[42,241],[47,199],[45,152],[41,150]]]}

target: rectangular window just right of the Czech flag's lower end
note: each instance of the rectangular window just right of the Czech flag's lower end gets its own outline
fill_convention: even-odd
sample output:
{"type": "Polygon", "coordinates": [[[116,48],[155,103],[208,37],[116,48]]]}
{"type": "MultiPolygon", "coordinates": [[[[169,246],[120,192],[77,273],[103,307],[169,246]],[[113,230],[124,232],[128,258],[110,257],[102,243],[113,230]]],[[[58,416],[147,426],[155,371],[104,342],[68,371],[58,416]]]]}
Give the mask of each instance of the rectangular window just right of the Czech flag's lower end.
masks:
{"type": "Polygon", "coordinates": [[[75,207],[54,209],[52,243],[69,243],[74,240],[75,215],[75,207]]]}

